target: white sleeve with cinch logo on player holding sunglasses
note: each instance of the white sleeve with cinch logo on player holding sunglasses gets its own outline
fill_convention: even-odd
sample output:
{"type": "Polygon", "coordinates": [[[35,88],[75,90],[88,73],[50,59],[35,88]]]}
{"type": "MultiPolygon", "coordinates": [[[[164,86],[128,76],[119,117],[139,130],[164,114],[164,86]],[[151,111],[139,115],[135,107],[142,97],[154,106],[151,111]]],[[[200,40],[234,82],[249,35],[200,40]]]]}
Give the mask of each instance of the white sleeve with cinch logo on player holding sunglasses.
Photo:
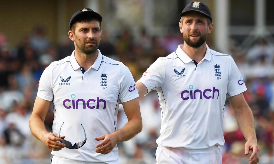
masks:
{"type": "Polygon", "coordinates": [[[119,86],[119,99],[122,103],[139,97],[132,74],[125,65],[122,65],[120,69],[119,86]]]}

